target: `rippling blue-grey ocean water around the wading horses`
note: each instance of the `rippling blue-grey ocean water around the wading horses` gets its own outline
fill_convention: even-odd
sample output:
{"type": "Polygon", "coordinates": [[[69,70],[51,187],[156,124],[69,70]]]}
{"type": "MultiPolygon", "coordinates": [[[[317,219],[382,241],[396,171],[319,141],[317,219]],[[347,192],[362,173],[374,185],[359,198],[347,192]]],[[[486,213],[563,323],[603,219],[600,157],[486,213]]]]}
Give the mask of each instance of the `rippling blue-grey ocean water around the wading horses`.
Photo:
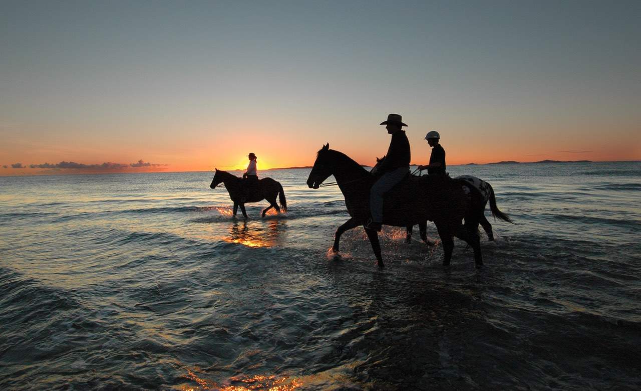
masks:
{"type": "Polygon", "coordinates": [[[2,177],[0,388],[641,388],[641,162],[448,168],[517,222],[480,270],[391,227],[385,269],[360,227],[335,259],[308,169],[248,220],[209,172],[2,177]]]}

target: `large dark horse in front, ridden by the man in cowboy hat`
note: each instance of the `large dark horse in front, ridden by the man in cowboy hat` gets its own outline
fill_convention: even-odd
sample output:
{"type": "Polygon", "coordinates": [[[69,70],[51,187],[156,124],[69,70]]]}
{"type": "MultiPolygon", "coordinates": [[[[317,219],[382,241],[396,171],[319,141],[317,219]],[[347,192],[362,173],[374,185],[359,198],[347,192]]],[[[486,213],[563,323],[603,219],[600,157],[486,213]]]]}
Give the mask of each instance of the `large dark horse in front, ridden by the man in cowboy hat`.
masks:
{"type": "MultiPolygon", "coordinates": [[[[326,144],[318,152],[316,161],[307,179],[307,185],[318,189],[330,175],[334,175],[340,191],[345,197],[347,212],[351,216],[338,227],[332,250],[338,252],[340,236],[346,230],[363,225],[370,217],[369,189],[376,181],[369,171],[362,168],[344,153],[330,150],[326,144]]],[[[431,220],[435,223],[443,243],[443,265],[449,265],[454,249],[453,236],[466,241],[474,250],[476,265],[483,265],[479,243],[478,222],[468,214],[470,202],[463,191],[463,181],[449,177],[413,177],[408,175],[391,191],[385,194],[383,202],[383,224],[408,227],[431,220]],[[466,219],[463,227],[463,217],[466,219]],[[476,225],[474,225],[476,223],[476,225]]],[[[365,229],[376,255],[377,265],[383,266],[381,246],[376,230],[365,229]]]]}

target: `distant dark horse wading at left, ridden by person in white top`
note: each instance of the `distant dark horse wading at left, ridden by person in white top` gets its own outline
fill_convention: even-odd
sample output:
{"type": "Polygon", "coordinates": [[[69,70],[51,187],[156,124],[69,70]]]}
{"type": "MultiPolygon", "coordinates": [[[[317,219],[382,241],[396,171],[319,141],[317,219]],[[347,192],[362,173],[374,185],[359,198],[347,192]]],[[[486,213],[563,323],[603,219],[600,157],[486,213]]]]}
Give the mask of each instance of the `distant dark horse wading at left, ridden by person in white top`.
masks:
{"type": "Polygon", "coordinates": [[[269,206],[263,209],[262,216],[265,217],[265,214],[269,209],[276,209],[280,212],[281,209],[283,212],[287,212],[287,199],[285,199],[285,191],[283,191],[283,186],[280,182],[273,180],[272,178],[263,178],[258,180],[256,186],[249,192],[246,200],[243,200],[243,191],[242,191],[242,179],[238,178],[236,175],[230,174],[227,171],[222,171],[216,169],[216,173],[213,175],[212,184],[209,187],[214,189],[219,186],[219,184],[225,184],[225,188],[229,193],[229,198],[234,202],[234,216],[238,211],[240,206],[240,211],[244,218],[247,218],[247,212],[245,211],[245,204],[247,202],[260,202],[262,200],[267,200],[269,206]],[[276,204],[276,196],[279,198],[280,207],[276,204]]]}

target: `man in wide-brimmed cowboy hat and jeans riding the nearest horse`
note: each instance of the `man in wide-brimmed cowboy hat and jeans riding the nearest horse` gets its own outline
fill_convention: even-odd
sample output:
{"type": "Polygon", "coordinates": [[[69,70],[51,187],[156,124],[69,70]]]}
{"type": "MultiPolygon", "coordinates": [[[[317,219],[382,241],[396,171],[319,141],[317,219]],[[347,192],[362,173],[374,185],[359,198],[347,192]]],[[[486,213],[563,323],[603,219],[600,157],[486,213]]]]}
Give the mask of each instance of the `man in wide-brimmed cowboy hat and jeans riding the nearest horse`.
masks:
{"type": "Polygon", "coordinates": [[[369,207],[372,214],[371,220],[367,223],[367,229],[380,231],[383,222],[383,195],[390,191],[392,187],[401,182],[408,171],[410,171],[410,141],[401,130],[402,126],[407,126],[401,121],[399,114],[390,114],[387,121],[381,122],[381,125],[387,125],[387,133],[392,135],[390,147],[387,150],[385,158],[378,166],[378,170],[372,169],[372,174],[380,171],[383,173],[370,189],[369,207]]]}

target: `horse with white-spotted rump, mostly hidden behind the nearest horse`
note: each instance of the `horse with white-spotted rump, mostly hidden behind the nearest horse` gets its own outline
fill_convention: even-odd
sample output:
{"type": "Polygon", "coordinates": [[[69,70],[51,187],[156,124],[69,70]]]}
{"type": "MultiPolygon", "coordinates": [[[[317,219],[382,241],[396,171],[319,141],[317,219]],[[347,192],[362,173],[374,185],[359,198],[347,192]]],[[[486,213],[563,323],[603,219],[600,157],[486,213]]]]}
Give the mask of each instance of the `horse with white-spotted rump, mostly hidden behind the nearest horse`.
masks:
{"type": "MultiPolygon", "coordinates": [[[[487,205],[488,201],[490,202],[490,211],[492,212],[492,216],[494,216],[495,219],[498,218],[499,220],[503,220],[504,222],[512,224],[514,223],[507,214],[501,212],[497,207],[496,198],[494,196],[494,189],[492,189],[492,185],[490,185],[488,182],[485,182],[485,180],[479,179],[472,175],[460,175],[454,179],[460,179],[466,182],[466,193],[469,193],[470,198],[473,198],[470,200],[470,202],[472,202],[472,205],[474,205],[474,211],[476,212],[478,222],[483,227],[483,230],[485,230],[488,241],[494,240],[492,224],[490,224],[490,222],[488,222],[487,218],[485,217],[485,206],[487,205]],[[470,188],[470,186],[472,187],[470,188]],[[472,191],[472,188],[476,191],[472,191]]],[[[476,229],[478,229],[478,225],[476,227],[476,229]]],[[[419,232],[420,238],[427,243],[426,222],[419,223],[419,232]]],[[[408,226],[406,228],[405,240],[407,243],[410,243],[410,241],[412,241],[412,226],[408,226]]]]}

